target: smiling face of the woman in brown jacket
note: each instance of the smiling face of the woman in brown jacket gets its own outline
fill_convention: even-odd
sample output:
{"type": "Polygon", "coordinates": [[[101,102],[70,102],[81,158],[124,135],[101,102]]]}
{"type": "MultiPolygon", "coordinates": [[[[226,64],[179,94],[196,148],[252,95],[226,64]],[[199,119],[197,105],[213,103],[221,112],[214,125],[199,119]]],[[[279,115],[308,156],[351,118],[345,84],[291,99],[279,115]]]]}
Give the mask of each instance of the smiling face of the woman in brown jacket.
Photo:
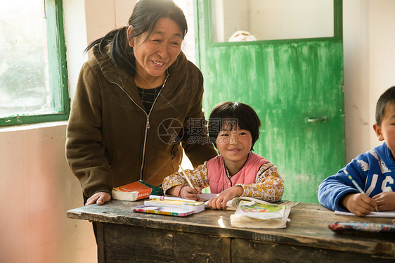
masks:
{"type": "MultiPolygon", "coordinates": [[[[128,37],[133,32],[134,27],[129,26],[128,37]]],[[[160,18],[153,32],[147,36],[148,32],[145,32],[129,39],[129,45],[134,49],[138,75],[145,79],[164,77],[164,71],[174,63],[181,51],[181,29],[174,20],[160,18]]]]}

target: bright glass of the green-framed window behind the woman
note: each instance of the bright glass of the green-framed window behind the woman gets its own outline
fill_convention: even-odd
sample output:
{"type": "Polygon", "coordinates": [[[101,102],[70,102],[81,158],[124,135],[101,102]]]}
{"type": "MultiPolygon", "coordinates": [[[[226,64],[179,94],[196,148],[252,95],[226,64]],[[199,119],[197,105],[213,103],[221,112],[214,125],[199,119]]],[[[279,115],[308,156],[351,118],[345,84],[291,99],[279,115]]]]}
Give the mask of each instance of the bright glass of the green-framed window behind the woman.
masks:
{"type": "Polygon", "coordinates": [[[59,46],[54,19],[57,1],[46,1],[1,3],[0,118],[64,111],[60,103],[62,85],[57,51],[48,49],[48,46],[55,46],[55,49],[59,46]],[[51,2],[51,6],[46,1],[51,2]],[[48,17],[55,25],[48,27],[48,17]]]}

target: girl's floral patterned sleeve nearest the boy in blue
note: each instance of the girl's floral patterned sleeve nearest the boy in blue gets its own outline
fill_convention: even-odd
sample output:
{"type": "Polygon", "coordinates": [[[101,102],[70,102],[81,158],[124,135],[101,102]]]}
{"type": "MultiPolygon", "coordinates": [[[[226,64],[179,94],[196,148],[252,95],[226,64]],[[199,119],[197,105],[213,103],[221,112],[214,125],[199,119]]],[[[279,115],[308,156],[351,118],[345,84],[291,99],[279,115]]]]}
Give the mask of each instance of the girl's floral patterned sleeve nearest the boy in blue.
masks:
{"type": "Polygon", "coordinates": [[[242,186],[242,196],[250,196],[268,202],[280,201],[284,193],[284,181],[277,172],[277,167],[268,162],[259,168],[255,184],[237,184],[242,186]]]}

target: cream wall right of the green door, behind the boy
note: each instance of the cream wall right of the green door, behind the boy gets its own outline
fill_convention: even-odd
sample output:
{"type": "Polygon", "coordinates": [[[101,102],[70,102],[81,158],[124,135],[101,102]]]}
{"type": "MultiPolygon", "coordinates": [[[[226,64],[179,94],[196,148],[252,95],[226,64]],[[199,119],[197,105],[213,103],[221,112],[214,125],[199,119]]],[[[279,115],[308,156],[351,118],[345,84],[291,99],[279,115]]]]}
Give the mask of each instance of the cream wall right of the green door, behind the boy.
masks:
{"type": "Polygon", "coordinates": [[[375,104],[395,85],[395,1],[344,0],[344,113],[347,161],[380,145],[375,104]]]}

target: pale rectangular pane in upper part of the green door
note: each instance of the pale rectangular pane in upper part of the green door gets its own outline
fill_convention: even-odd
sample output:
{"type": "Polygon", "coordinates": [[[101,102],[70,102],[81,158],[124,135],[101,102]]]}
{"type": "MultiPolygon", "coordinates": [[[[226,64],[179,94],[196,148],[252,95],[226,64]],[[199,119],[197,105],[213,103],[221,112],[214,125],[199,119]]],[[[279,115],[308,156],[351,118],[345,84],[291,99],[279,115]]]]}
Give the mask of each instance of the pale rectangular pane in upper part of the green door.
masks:
{"type": "Polygon", "coordinates": [[[212,23],[215,42],[334,37],[334,3],[213,0],[212,23]]]}

